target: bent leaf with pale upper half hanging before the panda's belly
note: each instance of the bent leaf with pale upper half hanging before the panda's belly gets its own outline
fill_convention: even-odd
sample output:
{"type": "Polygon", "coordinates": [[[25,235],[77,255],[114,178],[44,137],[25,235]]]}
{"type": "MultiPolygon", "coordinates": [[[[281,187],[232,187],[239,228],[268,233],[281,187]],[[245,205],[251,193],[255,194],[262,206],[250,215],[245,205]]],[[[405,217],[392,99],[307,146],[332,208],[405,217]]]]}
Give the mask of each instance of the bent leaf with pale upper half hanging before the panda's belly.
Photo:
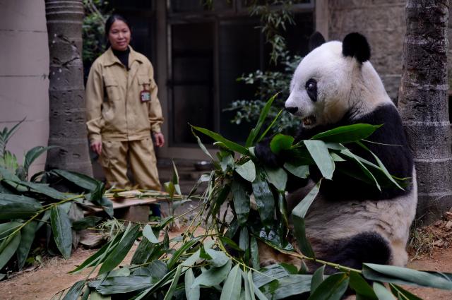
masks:
{"type": "Polygon", "coordinates": [[[297,244],[305,256],[314,258],[315,253],[312,250],[311,244],[306,236],[306,228],[304,226],[304,217],[307,214],[309,207],[316,198],[320,190],[321,181],[319,181],[312,189],[309,191],[307,196],[298,203],[298,205],[292,210],[292,219],[294,224],[295,238],[297,239],[297,244]]]}

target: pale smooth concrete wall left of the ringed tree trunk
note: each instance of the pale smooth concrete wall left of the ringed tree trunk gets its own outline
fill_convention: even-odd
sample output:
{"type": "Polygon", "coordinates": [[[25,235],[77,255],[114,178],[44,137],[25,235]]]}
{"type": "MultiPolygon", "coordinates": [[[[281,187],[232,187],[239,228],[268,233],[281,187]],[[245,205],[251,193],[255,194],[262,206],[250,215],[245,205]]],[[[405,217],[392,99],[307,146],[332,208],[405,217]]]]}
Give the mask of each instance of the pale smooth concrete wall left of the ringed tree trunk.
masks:
{"type": "MultiPolygon", "coordinates": [[[[49,137],[49,50],[44,1],[0,0],[0,129],[26,117],[8,149],[26,150],[49,137]]],[[[44,169],[42,155],[30,174],[44,169]]]]}

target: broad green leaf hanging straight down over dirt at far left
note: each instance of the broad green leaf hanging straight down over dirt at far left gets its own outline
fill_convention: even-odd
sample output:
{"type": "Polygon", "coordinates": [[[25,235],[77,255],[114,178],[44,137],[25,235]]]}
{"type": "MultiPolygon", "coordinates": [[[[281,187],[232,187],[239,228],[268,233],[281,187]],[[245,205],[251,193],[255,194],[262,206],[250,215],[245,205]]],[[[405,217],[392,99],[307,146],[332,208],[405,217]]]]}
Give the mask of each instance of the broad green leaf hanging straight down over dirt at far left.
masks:
{"type": "Polygon", "coordinates": [[[50,210],[50,224],[58,250],[65,259],[68,259],[72,250],[71,221],[60,205],[50,210]]]}

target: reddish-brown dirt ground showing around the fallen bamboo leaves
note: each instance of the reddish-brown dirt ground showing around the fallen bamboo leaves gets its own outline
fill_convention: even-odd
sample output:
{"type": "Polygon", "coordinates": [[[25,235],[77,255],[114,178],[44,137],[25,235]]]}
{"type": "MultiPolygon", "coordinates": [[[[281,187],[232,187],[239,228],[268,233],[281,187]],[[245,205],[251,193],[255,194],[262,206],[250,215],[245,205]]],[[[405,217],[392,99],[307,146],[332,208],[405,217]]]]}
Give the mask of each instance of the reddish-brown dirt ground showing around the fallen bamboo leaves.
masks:
{"type": "MultiPolygon", "coordinates": [[[[451,214],[452,219],[452,214],[451,214]]],[[[446,224],[450,220],[437,222],[432,227],[427,227],[425,232],[428,232],[429,241],[433,246],[433,250],[428,254],[417,256],[414,260],[414,254],[411,255],[411,261],[408,264],[409,268],[417,270],[433,270],[439,272],[452,272],[452,231],[446,230],[446,224]],[[440,242],[443,241],[443,242],[440,242]]],[[[450,224],[449,224],[450,225],[450,224]]],[[[451,229],[449,227],[449,229],[451,229]]],[[[170,236],[177,236],[181,233],[173,232],[170,236]]],[[[201,234],[201,232],[199,232],[201,234]]],[[[135,247],[135,246],[134,246],[135,247]]],[[[0,299],[2,300],[32,300],[32,299],[52,299],[52,296],[62,289],[71,287],[71,285],[78,280],[82,280],[90,272],[84,270],[76,275],[69,275],[67,272],[73,270],[76,265],[79,265],[90,255],[95,253],[94,250],[84,250],[78,248],[69,260],[62,258],[49,258],[44,260],[44,264],[35,270],[25,270],[17,275],[14,275],[8,280],[0,282],[0,299]]],[[[126,263],[131,260],[133,251],[126,257],[126,263]]],[[[93,272],[92,277],[95,277],[96,272],[93,272]]],[[[412,293],[420,296],[425,300],[451,300],[452,291],[444,291],[439,289],[427,289],[417,287],[407,287],[412,293]]]]}

